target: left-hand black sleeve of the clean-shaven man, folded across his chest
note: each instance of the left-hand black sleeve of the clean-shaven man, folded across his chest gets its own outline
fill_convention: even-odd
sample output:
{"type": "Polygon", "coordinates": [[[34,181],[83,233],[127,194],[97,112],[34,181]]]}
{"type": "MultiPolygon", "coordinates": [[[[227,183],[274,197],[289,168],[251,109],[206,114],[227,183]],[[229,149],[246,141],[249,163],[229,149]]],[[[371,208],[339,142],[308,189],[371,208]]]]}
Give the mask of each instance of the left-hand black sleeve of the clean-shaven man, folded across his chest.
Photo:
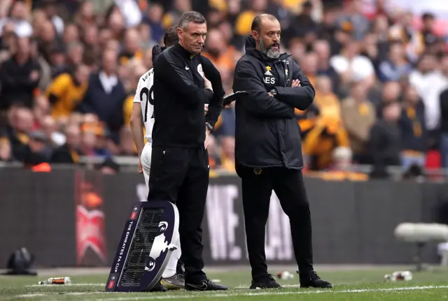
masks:
{"type": "Polygon", "coordinates": [[[188,75],[186,64],[175,54],[169,53],[169,50],[162,52],[155,60],[154,75],[165,85],[186,96],[182,101],[204,104],[209,103],[214,95],[210,89],[197,87],[188,75]]]}

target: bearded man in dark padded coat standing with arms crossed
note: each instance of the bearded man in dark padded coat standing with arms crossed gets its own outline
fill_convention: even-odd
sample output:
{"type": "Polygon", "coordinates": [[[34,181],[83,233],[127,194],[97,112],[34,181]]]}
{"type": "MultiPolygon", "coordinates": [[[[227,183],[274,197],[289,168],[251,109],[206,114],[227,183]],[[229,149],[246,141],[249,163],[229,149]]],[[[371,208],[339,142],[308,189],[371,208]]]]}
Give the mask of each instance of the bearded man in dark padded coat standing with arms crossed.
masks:
{"type": "Polygon", "coordinates": [[[242,180],[251,288],[278,288],[267,273],[265,226],[272,190],[290,220],[301,287],[331,288],[313,268],[311,217],[302,175],[300,129],[294,109],[305,110],[314,87],[290,54],[280,53],[281,28],[273,15],[258,15],[235,68],[237,99],[235,167],[242,180]]]}

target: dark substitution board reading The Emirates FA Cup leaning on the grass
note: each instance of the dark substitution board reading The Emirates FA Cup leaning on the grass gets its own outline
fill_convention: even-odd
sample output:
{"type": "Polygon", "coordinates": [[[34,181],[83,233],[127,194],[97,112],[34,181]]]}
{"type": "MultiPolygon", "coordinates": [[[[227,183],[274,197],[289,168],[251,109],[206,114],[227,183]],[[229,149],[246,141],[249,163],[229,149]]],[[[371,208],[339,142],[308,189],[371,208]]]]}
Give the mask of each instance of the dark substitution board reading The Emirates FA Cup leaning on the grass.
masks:
{"type": "Polygon", "coordinates": [[[179,235],[179,212],[167,201],[134,205],[116,251],[107,292],[150,291],[162,277],[179,235]]]}

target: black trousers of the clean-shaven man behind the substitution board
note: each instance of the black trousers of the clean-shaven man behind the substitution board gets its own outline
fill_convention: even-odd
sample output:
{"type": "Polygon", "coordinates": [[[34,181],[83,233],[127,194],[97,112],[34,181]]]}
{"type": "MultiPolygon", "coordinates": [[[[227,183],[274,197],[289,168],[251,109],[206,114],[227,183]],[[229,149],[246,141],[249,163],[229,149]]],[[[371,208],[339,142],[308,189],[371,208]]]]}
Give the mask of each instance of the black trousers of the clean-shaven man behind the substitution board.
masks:
{"type": "Polygon", "coordinates": [[[154,147],[148,201],[168,200],[179,210],[179,235],[187,282],[205,278],[202,219],[209,186],[209,156],[204,147],[154,147]]]}

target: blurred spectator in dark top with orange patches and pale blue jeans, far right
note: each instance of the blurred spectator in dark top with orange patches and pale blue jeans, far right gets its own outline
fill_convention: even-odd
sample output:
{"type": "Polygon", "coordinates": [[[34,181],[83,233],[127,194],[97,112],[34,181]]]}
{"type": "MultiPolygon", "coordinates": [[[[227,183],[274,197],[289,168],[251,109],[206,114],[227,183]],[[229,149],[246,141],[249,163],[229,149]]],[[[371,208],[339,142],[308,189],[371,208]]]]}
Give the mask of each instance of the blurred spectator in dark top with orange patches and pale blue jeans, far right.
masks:
{"type": "Polygon", "coordinates": [[[414,87],[405,91],[400,117],[401,161],[409,168],[412,164],[424,166],[426,152],[425,107],[414,87]]]}

